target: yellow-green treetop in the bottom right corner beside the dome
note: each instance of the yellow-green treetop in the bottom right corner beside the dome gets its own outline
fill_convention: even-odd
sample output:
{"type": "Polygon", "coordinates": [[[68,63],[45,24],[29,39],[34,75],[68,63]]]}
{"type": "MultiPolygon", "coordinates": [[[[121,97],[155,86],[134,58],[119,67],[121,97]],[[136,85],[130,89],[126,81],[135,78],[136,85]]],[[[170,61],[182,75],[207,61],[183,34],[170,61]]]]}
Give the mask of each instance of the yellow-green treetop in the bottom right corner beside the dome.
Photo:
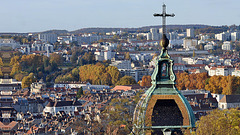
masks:
{"type": "Polygon", "coordinates": [[[196,135],[239,135],[240,111],[238,109],[213,110],[197,122],[196,135]]]}

